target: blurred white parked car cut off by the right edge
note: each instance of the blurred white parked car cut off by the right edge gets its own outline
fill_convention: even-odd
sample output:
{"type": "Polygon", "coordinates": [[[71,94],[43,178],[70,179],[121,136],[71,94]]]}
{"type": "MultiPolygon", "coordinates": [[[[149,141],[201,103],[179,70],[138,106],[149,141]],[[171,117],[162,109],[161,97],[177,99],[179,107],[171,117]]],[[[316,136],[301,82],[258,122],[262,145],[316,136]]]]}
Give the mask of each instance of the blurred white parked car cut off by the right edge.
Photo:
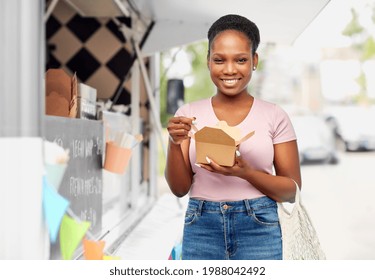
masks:
{"type": "Polygon", "coordinates": [[[375,107],[330,107],[326,109],[326,121],[346,151],[375,150],[375,107]]]}

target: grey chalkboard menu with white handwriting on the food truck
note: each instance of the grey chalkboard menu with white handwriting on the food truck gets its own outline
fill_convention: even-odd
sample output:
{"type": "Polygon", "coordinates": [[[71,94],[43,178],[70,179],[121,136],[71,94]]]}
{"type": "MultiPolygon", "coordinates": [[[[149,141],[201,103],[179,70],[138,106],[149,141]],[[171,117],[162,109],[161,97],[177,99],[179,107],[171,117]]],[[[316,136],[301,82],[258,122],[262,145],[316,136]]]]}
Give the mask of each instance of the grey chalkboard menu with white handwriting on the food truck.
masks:
{"type": "MultiPolygon", "coordinates": [[[[102,226],[102,159],[104,130],[101,121],[45,116],[45,138],[69,149],[69,162],[59,193],[90,233],[102,226]]],[[[52,255],[54,252],[52,252],[52,255]]]]}

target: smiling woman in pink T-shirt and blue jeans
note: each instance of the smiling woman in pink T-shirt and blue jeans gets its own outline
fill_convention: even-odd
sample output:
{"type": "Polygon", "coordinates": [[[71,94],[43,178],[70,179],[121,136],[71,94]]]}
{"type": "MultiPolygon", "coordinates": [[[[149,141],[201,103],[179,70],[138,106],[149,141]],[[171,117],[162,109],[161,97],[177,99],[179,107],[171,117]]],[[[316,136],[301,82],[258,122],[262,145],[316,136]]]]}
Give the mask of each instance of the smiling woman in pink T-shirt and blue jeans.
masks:
{"type": "Polygon", "coordinates": [[[208,31],[207,65],[216,94],[185,104],[168,122],[165,177],[178,197],[189,193],[182,259],[282,259],[276,201],[291,201],[301,186],[298,148],[287,114],[248,92],[258,65],[257,26],[226,15],[208,31]],[[226,121],[242,135],[235,164],[196,164],[192,123],[226,121]]]}

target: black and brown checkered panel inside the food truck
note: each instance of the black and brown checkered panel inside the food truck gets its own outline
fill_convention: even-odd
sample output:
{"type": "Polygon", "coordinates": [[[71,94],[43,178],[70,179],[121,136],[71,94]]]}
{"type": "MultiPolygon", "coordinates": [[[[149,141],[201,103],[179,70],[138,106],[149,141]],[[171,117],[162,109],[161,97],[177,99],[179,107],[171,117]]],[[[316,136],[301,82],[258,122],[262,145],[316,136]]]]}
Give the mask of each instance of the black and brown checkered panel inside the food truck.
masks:
{"type": "MultiPolygon", "coordinates": [[[[131,27],[129,18],[118,18],[131,27]]],[[[59,1],[46,24],[47,65],[76,73],[80,82],[97,89],[99,99],[112,99],[132,66],[131,46],[111,18],[81,17],[59,1]]],[[[130,104],[129,83],[117,104],[130,104]]]]}

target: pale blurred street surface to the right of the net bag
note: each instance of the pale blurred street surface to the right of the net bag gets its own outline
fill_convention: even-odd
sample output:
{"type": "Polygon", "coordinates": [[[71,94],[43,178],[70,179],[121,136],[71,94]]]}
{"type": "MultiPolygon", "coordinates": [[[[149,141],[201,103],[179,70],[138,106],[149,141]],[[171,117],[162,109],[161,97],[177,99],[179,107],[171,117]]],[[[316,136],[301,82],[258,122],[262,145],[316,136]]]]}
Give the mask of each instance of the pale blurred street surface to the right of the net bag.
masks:
{"type": "Polygon", "coordinates": [[[337,165],[302,165],[302,200],[333,260],[375,259],[375,152],[341,152],[337,165]]]}

